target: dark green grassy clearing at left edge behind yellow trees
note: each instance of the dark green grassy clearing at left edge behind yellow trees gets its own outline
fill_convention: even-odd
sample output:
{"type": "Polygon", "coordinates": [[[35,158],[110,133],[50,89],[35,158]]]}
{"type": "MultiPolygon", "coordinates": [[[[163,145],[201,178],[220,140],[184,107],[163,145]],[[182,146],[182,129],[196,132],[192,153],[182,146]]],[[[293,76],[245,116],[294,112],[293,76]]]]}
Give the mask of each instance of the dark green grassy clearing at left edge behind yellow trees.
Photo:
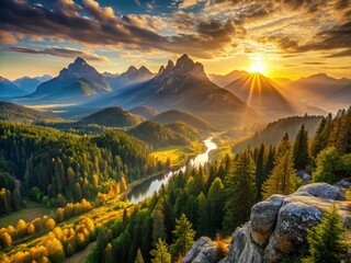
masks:
{"type": "Polygon", "coordinates": [[[10,225],[15,227],[20,219],[29,222],[37,217],[43,217],[45,215],[49,216],[52,214],[49,208],[39,203],[26,201],[26,204],[27,206],[25,208],[21,208],[18,211],[12,211],[8,216],[0,217],[0,228],[8,227],[10,225]]]}

